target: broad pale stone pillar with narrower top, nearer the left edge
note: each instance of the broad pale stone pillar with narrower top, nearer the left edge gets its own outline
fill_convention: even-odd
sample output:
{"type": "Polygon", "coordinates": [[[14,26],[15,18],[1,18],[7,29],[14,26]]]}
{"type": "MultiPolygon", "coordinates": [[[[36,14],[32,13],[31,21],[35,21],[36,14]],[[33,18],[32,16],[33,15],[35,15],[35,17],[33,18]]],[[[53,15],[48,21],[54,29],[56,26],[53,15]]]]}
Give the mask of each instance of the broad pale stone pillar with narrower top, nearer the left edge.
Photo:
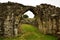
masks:
{"type": "Polygon", "coordinates": [[[13,24],[9,15],[7,16],[7,19],[4,21],[4,36],[13,36],[13,24]]]}

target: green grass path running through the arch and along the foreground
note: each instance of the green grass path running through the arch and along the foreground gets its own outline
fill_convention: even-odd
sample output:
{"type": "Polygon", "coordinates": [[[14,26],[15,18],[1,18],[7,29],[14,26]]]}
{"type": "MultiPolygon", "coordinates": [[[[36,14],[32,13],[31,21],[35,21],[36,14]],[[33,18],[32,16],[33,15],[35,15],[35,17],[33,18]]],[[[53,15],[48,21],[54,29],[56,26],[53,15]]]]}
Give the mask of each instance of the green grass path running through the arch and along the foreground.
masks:
{"type": "Polygon", "coordinates": [[[0,40],[57,40],[54,36],[41,34],[39,30],[32,25],[22,24],[20,28],[22,31],[20,36],[0,40]]]}

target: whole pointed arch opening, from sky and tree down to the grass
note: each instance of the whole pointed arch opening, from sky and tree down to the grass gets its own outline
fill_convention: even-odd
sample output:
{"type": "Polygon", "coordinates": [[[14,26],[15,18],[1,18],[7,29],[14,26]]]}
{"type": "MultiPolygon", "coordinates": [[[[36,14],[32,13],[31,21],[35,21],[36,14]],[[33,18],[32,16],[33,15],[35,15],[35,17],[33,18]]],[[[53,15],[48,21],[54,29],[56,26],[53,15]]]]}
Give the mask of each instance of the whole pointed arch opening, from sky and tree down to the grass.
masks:
{"type": "Polygon", "coordinates": [[[34,11],[27,10],[21,15],[21,17],[22,19],[20,22],[21,23],[20,29],[23,34],[28,32],[34,32],[35,30],[37,30],[36,28],[37,21],[36,21],[36,15],[34,11]],[[27,15],[28,17],[25,15],[27,15]]]}

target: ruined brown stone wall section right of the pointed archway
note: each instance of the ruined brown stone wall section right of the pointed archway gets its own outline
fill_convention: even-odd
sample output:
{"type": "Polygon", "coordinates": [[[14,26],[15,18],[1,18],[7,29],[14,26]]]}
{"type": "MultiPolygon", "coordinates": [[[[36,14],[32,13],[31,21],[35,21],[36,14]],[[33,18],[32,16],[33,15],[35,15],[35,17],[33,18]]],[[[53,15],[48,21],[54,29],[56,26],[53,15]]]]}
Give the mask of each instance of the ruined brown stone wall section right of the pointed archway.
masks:
{"type": "Polygon", "coordinates": [[[36,8],[39,30],[44,34],[60,34],[60,8],[47,4],[41,4],[36,8]]]}

